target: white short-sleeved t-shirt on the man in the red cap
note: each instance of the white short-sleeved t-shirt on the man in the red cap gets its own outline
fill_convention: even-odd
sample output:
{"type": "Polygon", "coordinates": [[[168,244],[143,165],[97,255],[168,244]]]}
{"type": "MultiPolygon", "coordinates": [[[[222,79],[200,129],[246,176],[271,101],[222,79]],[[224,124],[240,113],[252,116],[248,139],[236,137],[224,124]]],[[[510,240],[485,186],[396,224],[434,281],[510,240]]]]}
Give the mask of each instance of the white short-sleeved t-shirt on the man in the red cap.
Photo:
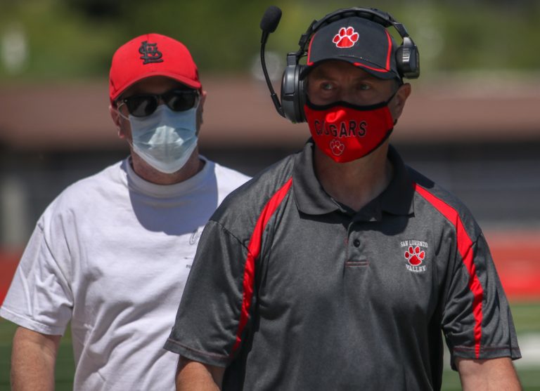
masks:
{"type": "Polygon", "coordinates": [[[64,190],[39,218],[0,316],[60,335],[71,321],[75,390],[174,390],[163,349],[200,233],[249,179],[206,161],[175,185],[118,162],[64,190]]]}

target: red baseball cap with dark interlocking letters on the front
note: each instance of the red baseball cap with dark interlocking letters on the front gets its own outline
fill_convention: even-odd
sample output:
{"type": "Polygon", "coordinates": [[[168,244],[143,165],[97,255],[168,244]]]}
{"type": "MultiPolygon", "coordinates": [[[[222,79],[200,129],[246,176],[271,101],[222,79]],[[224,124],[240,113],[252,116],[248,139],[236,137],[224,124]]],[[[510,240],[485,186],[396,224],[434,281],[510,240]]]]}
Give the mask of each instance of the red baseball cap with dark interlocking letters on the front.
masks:
{"type": "Polygon", "coordinates": [[[126,88],[141,79],[165,76],[199,89],[199,72],[188,48],[161,34],[144,34],[120,46],[109,73],[109,98],[114,102],[126,88]]]}

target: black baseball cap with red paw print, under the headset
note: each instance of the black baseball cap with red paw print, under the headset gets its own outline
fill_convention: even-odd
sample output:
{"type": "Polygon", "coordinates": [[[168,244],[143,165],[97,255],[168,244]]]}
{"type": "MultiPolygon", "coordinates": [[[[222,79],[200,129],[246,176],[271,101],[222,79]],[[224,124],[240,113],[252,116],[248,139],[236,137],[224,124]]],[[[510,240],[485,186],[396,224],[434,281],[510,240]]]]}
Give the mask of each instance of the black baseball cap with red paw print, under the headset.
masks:
{"type": "Polygon", "coordinates": [[[307,74],[325,60],[343,60],[379,79],[401,79],[397,70],[396,42],[377,22],[357,16],[331,22],[311,37],[307,51],[307,74]]]}

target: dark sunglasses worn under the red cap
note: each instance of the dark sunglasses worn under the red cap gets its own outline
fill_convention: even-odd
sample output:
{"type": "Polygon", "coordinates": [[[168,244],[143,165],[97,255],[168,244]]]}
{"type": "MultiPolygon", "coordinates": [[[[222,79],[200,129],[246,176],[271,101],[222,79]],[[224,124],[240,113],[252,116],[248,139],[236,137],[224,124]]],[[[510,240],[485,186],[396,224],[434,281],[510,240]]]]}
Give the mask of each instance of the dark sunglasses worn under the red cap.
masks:
{"type": "Polygon", "coordinates": [[[160,101],[174,112],[185,112],[195,107],[198,100],[199,93],[196,90],[174,89],[160,95],[149,93],[131,95],[121,99],[120,102],[126,105],[127,111],[132,116],[146,117],[155,112],[160,101]]]}

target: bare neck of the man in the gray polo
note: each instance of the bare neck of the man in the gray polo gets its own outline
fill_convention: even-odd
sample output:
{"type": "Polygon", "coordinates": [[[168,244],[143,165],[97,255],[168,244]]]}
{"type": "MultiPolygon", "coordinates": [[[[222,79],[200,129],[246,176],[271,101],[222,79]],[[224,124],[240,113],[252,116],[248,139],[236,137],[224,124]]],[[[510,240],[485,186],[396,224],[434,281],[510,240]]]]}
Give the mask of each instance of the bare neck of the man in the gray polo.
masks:
{"type": "Polygon", "coordinates": [[[319,148],[314,148],[314,169],[323,189],[336,201],[359,211],[381,194],[390,181],[394,168],[387,158],[385,143],[366,157],[336,163],[319,148]]]}

